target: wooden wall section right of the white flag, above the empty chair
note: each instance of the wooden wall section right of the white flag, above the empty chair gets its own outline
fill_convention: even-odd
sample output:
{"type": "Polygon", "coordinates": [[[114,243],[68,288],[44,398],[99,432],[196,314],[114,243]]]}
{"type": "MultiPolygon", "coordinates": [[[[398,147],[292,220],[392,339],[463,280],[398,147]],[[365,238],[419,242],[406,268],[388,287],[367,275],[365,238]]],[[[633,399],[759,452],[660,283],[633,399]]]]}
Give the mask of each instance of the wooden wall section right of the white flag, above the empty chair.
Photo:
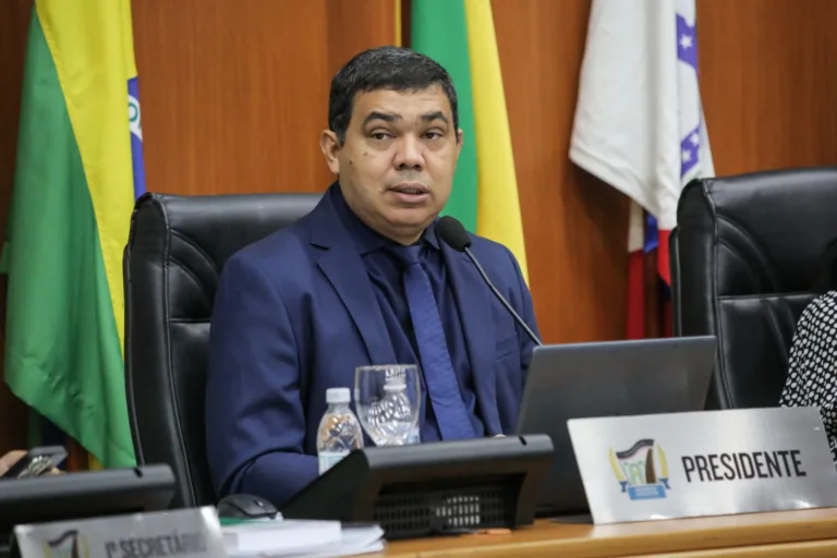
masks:
{"type": "Polygon", "coordinates": [[[837,2],[698,0],[715,170],[837,163],[837,2]]]}

